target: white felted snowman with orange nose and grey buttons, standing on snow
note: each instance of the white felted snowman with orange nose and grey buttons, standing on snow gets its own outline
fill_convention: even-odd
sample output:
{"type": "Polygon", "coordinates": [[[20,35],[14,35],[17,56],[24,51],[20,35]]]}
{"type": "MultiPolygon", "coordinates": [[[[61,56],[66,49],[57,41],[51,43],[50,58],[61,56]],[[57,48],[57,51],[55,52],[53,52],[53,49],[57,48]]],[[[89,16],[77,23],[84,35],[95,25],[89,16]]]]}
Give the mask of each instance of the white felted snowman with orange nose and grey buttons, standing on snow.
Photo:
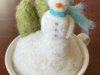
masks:
{"type": "Polygon", "coordinates": [[[49,37],[68,38],[74,29],[74,21],[68,15],[67,0],[48,0],[50,10],[42,18],[42,28],[49,37]]]}

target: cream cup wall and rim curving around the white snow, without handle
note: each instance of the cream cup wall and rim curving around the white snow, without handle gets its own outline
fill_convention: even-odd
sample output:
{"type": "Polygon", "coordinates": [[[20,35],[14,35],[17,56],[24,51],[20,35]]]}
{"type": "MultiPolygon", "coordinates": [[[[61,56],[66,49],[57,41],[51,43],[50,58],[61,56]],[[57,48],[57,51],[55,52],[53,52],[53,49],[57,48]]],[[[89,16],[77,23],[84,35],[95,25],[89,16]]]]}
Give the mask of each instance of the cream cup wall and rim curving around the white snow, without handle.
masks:
{"type": "MultiPolygon", "coordinates": [[[[80,46],[81,52],[83,54],[83,65],[80,69],[80,71],[77,73],[77,75],[83,75],[88,67],[89,64],[89,53],[88,53],[88,49],[86,47],[86,44],[82,41],[82,39],[80,39],[79,37],[77,37],[76,35],[73,36],[75,38],[75,40],[77,41],[78,45],[80,46]]],[[[16,37],[12,43],[9,45],[6,55],[5,55],[5,65],[7,68],[7,71],[10,75],[17,75],[14,68],[13,68],[13,63],[12,63],[12,54],[14,51],[14,48],[16,46],[16,43],[18,41],[18,39],[20,38],[20,36],[16,37]]]]}

